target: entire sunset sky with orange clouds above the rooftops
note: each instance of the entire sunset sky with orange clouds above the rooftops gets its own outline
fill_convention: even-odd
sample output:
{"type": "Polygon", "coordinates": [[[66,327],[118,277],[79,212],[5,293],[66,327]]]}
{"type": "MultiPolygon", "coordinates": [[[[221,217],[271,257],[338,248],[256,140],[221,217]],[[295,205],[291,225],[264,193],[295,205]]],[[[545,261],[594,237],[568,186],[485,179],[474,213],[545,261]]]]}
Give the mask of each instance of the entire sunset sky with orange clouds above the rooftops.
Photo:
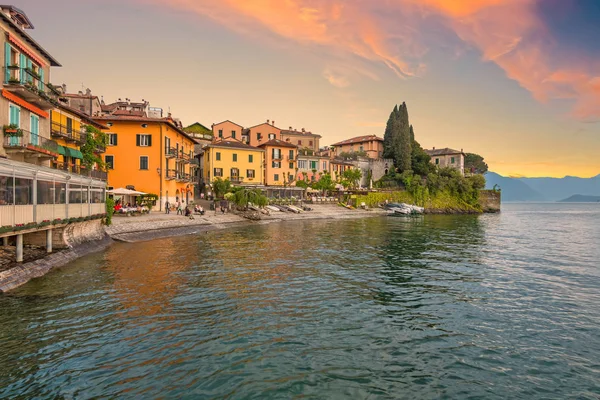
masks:
{"type": "Polygon", "coordinates": [[[322,145],[383,136],[505,176],[600,174],[599,0],[15,0],[54,84],[184,125],[274,120],[322,145]]]}

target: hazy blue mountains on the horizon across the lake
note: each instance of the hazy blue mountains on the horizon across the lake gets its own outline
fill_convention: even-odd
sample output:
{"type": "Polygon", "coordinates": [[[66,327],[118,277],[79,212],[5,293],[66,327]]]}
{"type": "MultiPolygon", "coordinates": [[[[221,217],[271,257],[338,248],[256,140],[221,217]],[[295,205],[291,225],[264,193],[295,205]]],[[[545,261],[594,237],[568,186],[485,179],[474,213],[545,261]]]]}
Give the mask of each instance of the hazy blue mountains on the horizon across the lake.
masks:
{"type": "Polygon", "coordinates": [[[488,189],[498,185],[504,201],[560,201],[580,193],[600,196],[600,175],[593,178],[507,178],[494,172],[486,174],[488,189]]]}

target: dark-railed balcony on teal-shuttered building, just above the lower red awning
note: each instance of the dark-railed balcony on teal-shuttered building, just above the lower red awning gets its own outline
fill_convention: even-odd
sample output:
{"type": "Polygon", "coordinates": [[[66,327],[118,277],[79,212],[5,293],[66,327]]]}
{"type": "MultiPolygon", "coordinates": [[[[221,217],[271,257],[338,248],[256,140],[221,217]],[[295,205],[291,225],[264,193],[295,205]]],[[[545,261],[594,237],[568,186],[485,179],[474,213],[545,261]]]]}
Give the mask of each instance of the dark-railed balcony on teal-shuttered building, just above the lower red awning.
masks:
{"type": "Polygon", "coordinates": [[[58,105],[58,91],[42,82],[40,76],[28,68],[5,67],[4,88],[42,110],[58,105]]]}

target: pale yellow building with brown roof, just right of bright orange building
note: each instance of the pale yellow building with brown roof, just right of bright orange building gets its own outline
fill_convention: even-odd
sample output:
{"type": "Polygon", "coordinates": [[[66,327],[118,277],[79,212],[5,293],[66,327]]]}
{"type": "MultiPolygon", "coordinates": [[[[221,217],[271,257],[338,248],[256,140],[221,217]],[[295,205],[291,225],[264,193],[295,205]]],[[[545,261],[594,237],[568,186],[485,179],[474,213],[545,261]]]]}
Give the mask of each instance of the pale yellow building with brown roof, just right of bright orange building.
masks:
{"type": "Polygon", "coordinates": [[[223,139],[204,148],[203,179],[210,184],[215,178],[231,183],[258,186],[264,182],[265,151],[239,140],[223,139]]]}

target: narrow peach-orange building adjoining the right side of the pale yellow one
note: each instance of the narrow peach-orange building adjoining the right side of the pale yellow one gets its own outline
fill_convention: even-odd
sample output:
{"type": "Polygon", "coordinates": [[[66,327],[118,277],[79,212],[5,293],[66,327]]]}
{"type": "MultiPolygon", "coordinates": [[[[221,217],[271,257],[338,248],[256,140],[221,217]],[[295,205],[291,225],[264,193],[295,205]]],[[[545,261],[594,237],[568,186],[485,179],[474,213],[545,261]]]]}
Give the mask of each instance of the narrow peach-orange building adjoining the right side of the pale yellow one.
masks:
{"type": "Polygon", "coordinates": [[[265,149],[265,184],[288,186],[295,180],[298,147],[279,139],[258,146],[265,149]]]}

